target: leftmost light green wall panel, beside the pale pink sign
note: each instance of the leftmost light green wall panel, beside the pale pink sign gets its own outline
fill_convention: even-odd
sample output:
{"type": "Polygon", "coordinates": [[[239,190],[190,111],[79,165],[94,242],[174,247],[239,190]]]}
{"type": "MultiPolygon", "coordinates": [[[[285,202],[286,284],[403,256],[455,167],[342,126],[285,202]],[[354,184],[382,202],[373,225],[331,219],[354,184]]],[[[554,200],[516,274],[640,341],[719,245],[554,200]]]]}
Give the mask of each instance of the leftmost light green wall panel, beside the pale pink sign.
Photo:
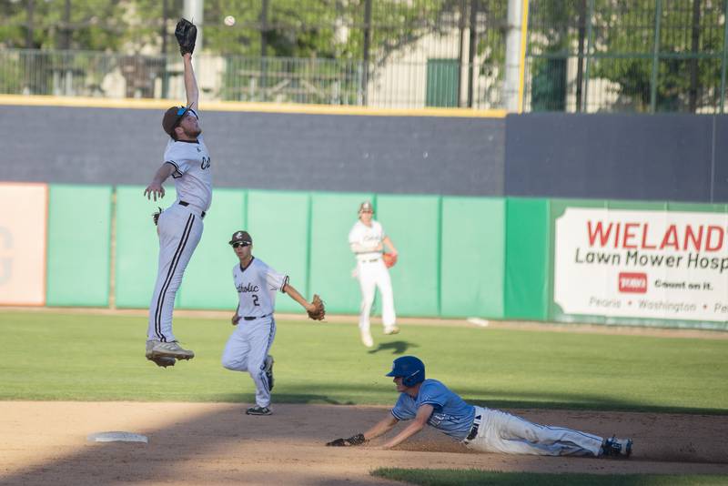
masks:
{"type": "Polygon", "coordinates": [[[109,305],[111,187],[50,185],[45,305],[109,305]]]}

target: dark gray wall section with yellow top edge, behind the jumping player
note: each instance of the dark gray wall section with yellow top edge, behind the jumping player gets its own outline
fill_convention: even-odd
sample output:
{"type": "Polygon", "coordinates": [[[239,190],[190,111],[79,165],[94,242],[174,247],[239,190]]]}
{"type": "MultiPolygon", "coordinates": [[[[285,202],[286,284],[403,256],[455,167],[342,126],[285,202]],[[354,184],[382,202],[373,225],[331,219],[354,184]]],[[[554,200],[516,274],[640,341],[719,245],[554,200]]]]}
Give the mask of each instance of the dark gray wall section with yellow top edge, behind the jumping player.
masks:
{"type": "MultiPolygon", "coordinates": [[[[0,180],[147,185],[163,110],[0,106],[0,180]]],[[[501,196],[505,120],[206,112],[216,187],[501,196]]]]}

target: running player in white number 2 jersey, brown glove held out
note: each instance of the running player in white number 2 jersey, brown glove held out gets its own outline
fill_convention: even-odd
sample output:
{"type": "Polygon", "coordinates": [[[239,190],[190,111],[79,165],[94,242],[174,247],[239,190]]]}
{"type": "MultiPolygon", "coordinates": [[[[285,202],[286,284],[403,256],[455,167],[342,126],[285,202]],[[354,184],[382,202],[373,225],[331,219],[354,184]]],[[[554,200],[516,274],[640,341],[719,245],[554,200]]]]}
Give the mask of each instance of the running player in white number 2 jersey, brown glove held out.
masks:
{"type": "Polygon", "coordinates": [[[308,302],[288,283],[288,276],[253,257],[253,238],[248,231],[236,231],[230,239],[239,262],[233,267],[233,281],[238,289],[238,309],[232,317],[236,328],[227,339],[222,366],[227,370],[248,371],[256,385],[256,405],[248,415],[270,415],[270,390],[273,390],[273,357],[268,354],[276,337],[276,291],[288,294],[314,320],[324,319],[326,311],[318,295],[308,302]]]}

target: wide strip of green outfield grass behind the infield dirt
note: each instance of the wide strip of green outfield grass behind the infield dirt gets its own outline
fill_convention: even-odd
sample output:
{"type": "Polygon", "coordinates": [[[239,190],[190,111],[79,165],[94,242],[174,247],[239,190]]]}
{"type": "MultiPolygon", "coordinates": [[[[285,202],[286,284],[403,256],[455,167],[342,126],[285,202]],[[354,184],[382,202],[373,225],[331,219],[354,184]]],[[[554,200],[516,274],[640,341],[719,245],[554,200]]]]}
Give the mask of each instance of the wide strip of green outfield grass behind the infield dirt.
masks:
{"type": "MultiPolygon", "coordinates": [[[[250,401],[248,375],[219,364],[231,329],[227,319],[176,319],[197,357],[165,370],[144,358],[143,317],[0,311],[0,400],[250,401]]],[[[415,354],[430,378],[490,407],[728,413],[725,339],[375,330],[369,350],[354,325],[278,322],[274,400],[389,405],[396,394],[383,375],[415,354]]]]}

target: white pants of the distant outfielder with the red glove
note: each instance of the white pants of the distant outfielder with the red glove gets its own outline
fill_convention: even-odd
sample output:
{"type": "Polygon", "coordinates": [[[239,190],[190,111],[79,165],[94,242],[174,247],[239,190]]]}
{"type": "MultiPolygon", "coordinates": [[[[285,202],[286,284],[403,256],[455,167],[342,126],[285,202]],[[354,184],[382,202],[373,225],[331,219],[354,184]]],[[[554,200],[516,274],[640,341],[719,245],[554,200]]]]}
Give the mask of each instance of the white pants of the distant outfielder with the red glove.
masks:
{"type": "Polygon", "coordinates": [[[392,297],[392,281],[389,270],[384,266],[381,258],[359,260],[357,263],[359,288],[361,289],[361,307],[359,308],[359,329],[369,331],[371,305],[374,302],[374,292],[379,288],[381,296],[381,320],[384,329],[394,326],[397,316],[394,313],[394,298],[392,297]]]}

